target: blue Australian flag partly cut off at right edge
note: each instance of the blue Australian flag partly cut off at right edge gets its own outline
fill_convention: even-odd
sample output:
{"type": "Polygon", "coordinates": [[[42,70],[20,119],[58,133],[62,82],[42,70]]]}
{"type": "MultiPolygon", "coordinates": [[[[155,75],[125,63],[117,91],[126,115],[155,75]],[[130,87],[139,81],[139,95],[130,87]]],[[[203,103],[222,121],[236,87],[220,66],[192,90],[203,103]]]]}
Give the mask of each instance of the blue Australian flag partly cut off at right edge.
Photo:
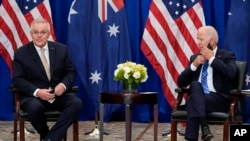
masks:
{"type": "MultiPolygon", "coordinates": [[[[232,50],[237,60],[248,62],[246,85],[250,89],[250,1],[232,0],[228,13],[225,48],[232,50]]],[[[244,121],[250,123],[250,98],[246,97],[243,108],[244,121]]]]}

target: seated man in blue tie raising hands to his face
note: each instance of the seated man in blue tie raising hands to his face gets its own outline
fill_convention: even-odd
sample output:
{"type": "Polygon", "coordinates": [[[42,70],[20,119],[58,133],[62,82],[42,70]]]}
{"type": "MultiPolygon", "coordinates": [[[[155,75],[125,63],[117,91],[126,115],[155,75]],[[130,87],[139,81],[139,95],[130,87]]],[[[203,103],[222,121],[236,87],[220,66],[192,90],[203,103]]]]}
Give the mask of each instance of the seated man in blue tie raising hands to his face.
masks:
{"type": "Polygon", "coordinates": [[[206,113],[228,111],[230,105],[229,90],[236,76],[234,53],[217,47],[218,33],[212,26],[198,29],[197,40],[200,52],[190,57],[187,68],[178,78],[179,87],[189,86],[186,99],[187,124],[185,139],[197,141],[201,125],[202,140],[213,138],[206,122],[206,113]],[[203,87],[202,69],[208,63],[208,91],[203,87]]]}

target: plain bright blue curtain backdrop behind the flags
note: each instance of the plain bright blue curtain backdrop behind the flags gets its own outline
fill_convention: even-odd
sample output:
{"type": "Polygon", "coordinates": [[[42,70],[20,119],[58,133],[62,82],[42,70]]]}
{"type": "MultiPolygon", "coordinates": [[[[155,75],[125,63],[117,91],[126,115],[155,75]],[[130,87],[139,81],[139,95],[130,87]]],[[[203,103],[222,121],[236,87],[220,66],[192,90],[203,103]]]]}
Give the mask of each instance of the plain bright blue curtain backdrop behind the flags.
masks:
{"type": "MultiPolygon", "coordinates": [[[[0,2],[2,1],[0,0],[0,2]]],[[[68,39],[68,13],[71,3],[72,0],[50,0],[52,7],[52,20],[57,41],[64,44],[67,44],[68,39]]],[[[172,112],[172,109],[161,91],[160,79],[140,50],[140,42],[151,0],[124,0],[124,3],[128,22],[130,47],[132,50],[132,60],[137,63],[145,64],[148,67],[149,79],[146,83],[140,85],[139,91],[159,92],[159,121],[170,122],[170,113],[172,112]]],[[[206,23],[214,26],[218,30],[220,36],[219,47],[224,48],[223,44],[231,0],[202,0],[202,3],[206,23]]],[[[13,119],[13,97],[7,90],[8,86],[11,84],[9,73],[10,71],[8,70],[3,58],[0,57],[0,120],[13,119]]],[[[79,80],[79,78],[77,80],[79,80]]],[[[78,95],[81,95],[81,97],[84,98],[84,94],[79,93],[78,95]]],[[[82,114],[82,116],[84,117],[81,116],[80,120],[94,120],[94,110],[90,111],[92,112],[83,112],[84,114],[82,114]]],[[[133,116],[134,121],[147,122],[152,120],[153,109],[151,106],[136,106],[133,112],[133,114],[137,115],[133,116]]],[[[114,113],[114,117],[121,117],[115,115],[121,115],[122,113],[123,109],[120,109],[120,111],[114,113]]]]}

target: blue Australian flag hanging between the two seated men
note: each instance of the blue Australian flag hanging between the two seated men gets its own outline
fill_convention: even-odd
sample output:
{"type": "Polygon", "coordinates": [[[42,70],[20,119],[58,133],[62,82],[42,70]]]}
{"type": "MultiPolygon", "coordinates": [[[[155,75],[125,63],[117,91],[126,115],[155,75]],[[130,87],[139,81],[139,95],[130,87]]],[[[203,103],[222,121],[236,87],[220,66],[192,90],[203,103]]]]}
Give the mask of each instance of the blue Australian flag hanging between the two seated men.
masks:
{"type": "MultiPolygon", "coordinates": [[[[74,0],[68,16],[68,48],[76,66],[78,97],[83,101],[81,119],[93,119],[99,109],[100,91],[119,91],[114,70],[131,61],[123,0],[74,0]]],[[[105,108],[105,117],[117,108],[105,108]],[[108,109],[107,109],[108,108],[108,109]]]]}

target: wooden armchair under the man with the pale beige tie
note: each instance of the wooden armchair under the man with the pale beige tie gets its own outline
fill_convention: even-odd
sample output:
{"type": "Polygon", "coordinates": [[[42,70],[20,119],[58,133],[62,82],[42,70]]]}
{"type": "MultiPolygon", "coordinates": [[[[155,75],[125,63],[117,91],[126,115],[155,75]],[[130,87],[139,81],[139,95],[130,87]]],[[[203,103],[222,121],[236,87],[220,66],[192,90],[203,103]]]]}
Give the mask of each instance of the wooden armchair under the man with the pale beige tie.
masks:
{"type": "MultiPolygon", "coordinates": [[[[74,86],[72,87],[72,91],[73,92],[77,92],[78,87],[74,86]]],[[[19,122],[19,131],[20,131],[20,141],[25,141],[25,132],[24,132],[24,124],[25,121],[29,121],[28,120],[28,113],[25,112],[24,110],[22,110],[20,108],[20,96],[19,96],[19,90],[14,88],[14,87],[10,87],[9,91],[12,92],[14,94],[14,103],[15,103],[15,113],[14,113],[14,141],[17,141],[17,126],[18,126],[18,122],[19,122]]],[[[59,111],[48,111],[44,113],[47,121],[57,121],[58,117],[60,116],[60,112],[59,111]]],[[[73,141],[78,141],[79,140],[79,130],[78,130],[78,120],[76,120],[73,123],[73,141]]],[[[67,140],[67,134],[64,137],[64,141],[67,140]]]]}

